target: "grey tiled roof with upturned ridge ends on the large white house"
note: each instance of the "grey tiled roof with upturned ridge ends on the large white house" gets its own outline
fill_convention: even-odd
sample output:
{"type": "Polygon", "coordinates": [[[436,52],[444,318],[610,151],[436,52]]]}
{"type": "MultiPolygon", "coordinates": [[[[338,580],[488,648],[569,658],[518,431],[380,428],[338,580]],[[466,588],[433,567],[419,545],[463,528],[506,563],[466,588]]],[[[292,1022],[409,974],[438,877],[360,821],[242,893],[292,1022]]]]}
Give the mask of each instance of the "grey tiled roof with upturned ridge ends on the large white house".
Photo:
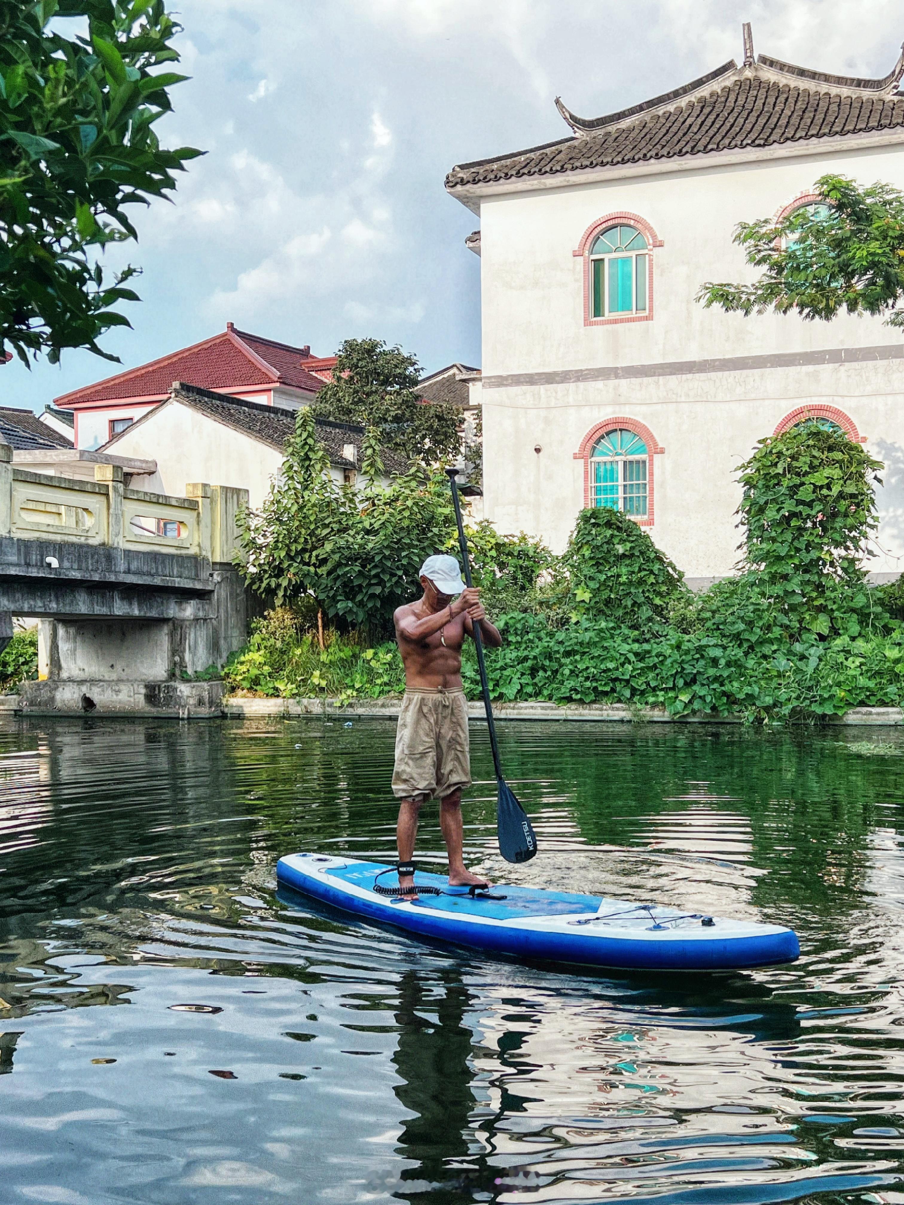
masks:
{"type": "Polygon", "coordinates": [[[861,80],[751,53],[606,117],[576,117],[557,99],[574,137],[460,164],[446,188],[902,128],[903,74],[904,54],[885,78],[861,80]]]}

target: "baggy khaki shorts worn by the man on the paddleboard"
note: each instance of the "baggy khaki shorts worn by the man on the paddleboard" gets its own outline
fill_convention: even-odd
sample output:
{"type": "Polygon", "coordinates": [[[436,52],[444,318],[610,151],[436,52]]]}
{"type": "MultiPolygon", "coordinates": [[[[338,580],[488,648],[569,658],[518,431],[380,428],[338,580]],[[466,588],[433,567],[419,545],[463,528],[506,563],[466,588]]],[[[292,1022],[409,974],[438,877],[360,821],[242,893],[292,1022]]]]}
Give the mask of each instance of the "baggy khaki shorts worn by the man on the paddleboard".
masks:
{"type": "Polygon", "coordinates": [[[464,690],[406,690],[395,733],[395,798],[445,799],[470,784],[464,690]]]}

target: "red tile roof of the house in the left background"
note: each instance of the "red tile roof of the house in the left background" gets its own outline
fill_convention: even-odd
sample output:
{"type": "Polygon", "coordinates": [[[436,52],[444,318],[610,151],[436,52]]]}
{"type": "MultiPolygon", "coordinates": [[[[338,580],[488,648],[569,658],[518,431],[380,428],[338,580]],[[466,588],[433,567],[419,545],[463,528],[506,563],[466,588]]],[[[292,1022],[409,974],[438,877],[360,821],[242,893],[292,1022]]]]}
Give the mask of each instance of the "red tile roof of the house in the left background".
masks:
{"type": "Polygon", "coordinates": [[[174,381],[213,390],[286,384],[317,393],[323,388],[323,378],[304,368],[307,359],[313,359],[310,348],[292,347],[260,335],[251,335],[236,330],[230,322],[222,334],[212,339],[65,393],[54,398],[54,402],[70,408],[129,398],[163,399],[169,394],[174,381]]]}

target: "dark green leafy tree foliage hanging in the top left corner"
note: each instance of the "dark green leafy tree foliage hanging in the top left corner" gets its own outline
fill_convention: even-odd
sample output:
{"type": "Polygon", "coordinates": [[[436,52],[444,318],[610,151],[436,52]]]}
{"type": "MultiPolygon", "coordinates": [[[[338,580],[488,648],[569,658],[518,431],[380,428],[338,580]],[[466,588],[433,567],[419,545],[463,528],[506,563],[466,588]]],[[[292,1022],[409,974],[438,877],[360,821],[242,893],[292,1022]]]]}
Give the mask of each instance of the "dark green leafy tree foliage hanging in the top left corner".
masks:
{"type": "Polygon", "coordinates": [[[0,0],[0,353],[116,359],[98,339],[129,325],[115,307],[139,300],[135,270],[111,278],[98,255],[137,239],[127,206],[165,196],[201,153],[153,128],[186,78],[154,72],[178,60],[178,29],[163,0],[0,0]]]}

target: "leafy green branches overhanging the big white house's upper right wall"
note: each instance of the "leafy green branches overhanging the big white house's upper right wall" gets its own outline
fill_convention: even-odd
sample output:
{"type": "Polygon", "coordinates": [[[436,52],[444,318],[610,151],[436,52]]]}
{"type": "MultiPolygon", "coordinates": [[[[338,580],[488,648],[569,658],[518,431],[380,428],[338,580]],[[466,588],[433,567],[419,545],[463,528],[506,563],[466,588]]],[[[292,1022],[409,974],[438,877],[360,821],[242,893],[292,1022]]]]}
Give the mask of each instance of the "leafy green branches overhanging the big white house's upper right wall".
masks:
{"type": "Polygon", "coordinates": [[[841,310],[887,315],[904,327],[904,194],[890,184],[859,188],[844,176],[822,176],[814,188],[824,204],[779,221],[740,222],[734,241],[753,268],[751,284],[708,281],[697,300],[742,315],[798,313],[828,322],[841,310]]]}

